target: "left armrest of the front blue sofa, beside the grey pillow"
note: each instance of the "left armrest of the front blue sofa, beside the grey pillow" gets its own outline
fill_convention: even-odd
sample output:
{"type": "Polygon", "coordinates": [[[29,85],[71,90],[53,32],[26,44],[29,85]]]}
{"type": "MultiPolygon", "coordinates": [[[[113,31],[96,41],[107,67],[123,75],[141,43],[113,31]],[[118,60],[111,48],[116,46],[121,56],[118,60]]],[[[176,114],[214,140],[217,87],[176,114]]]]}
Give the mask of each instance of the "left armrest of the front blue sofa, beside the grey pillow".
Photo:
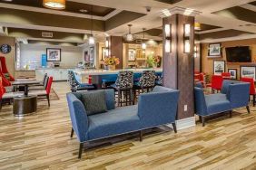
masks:
{"type": "Polygon", "coordinates": [[[88,118],[83,103],[73,93],[66,94],[72,126],[80,142],[86,140],[88,118]]]}

